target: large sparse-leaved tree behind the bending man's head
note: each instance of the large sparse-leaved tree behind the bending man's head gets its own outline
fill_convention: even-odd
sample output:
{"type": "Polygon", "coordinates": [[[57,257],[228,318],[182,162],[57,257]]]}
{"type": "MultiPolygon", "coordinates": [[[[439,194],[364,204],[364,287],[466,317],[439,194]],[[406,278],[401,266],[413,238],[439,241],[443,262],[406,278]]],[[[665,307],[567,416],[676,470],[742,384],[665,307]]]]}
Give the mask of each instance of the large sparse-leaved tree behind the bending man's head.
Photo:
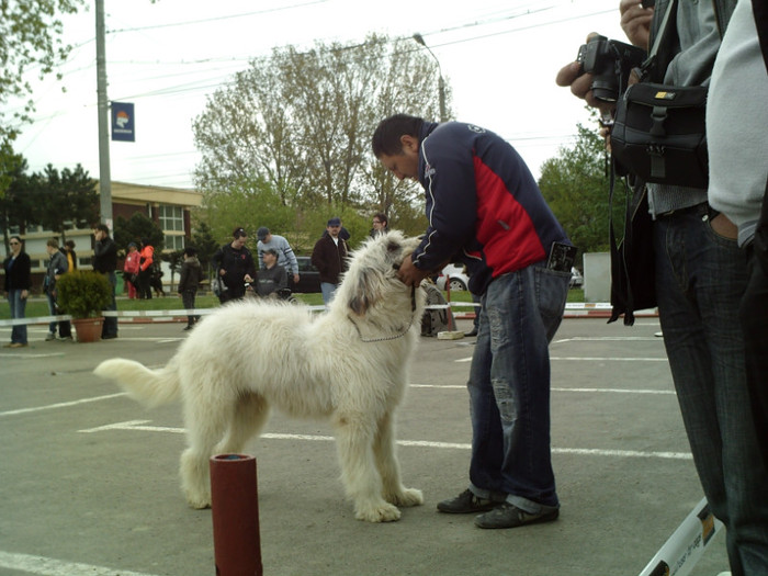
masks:
{"type": "MultiPolygon", "coordinates": [[[[370,140],[376,124],[395,112],[437,117],[437,74],[413,39],[376,35],[354,45],[318,43],[307,52],[276,48],[252,60],[194,121],[203,157],[195,183],[207,214],[219,214],[231,228],[242,219],[233,208],[256,197],[263,206],[247,223],[306,237],[318,222],[325,228],[330,212],[352,210],[368,219],[381,210],[393,226],[399,227],[400,213],[413,223],[413,206],[423,206],[421,193],[385,173],[370,140]],[[228,195],[240,199],[227,204],[228,195]]],[[[211,227],[219,237],[223,228],[211,227]]]]}

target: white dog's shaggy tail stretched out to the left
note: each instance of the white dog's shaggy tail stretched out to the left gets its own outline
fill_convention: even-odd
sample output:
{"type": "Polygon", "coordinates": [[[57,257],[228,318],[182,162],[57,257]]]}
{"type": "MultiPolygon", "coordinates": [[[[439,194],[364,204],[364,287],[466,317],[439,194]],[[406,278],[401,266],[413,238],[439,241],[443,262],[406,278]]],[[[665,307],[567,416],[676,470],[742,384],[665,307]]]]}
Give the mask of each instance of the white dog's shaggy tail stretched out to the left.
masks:
{"type": "Polygon", "coordinates": [[[129,397],[154,408],[173,402],[180,396],[179,371],[174,363],[176,359],[160,370],[149,370],[134,360],[113,358],[104,360],[93,373],[97,376],[117,381],[129,397]]]}

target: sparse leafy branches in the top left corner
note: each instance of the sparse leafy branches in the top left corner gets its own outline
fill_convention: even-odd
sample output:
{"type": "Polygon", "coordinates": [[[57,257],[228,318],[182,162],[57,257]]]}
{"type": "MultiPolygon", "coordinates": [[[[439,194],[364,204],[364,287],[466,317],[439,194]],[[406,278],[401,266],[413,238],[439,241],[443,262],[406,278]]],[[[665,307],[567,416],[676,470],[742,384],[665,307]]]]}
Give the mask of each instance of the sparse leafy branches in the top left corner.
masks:
{"type": "MultiPolygon", "coordinates": [[[[13,140],[20,125],[34,111],[30,98],[20,111],[8,117],[11,98],[27,98],[32,86],[24,79],[31,70],[43,78],[52,74],[69,54],[61,42],[64,25],[59,14],[71,14],[82,0],[0,1],[0,142],[13,140]]],[[[60,75],[57,75],[60,79],[60,75]]],[[[0,189],[0,196],[3,190],[0,189]]]]}

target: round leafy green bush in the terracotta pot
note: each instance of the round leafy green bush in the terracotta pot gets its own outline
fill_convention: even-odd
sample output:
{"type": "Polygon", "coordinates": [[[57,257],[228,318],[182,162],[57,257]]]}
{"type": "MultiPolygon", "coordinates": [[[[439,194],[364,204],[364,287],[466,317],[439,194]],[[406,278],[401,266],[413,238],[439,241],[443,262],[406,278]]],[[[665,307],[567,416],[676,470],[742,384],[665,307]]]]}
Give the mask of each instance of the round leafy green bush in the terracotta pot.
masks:
{"type": "Polygon", "coordinates": [[[112,284],[104,274],[74,270],[56,281],[57,304],[74,318],[97,318],[112,304],[112,284]]]}

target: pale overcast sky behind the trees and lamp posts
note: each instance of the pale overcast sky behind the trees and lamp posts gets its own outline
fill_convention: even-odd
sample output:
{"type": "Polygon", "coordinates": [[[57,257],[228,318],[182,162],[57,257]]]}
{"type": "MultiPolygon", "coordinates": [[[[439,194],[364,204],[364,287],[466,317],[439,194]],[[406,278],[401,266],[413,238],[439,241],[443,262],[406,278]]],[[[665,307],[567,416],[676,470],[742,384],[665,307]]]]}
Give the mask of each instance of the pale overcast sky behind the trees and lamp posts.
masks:
{"type": "MultiPolygon", "coordinates": [[[[31,171],[80,162],[99,177],[95,13],[87,3],[89,11],[65,19],[65,39],[75,48],[63,80],[33,82],[35,122],[14,145],[31,171]]],[[[555,74],[591,31],[625,41],[619,0],[104,3],[108,95],[133,102],[136,123],[135,143],[110,145],[112,180],[180,188],[193,185],[200,156],[192,121],[206,95],[275,46],[418,32],[453,90],[456,117],[500,134],[538,177],[541,163],[573,142],[576,123],[587,121],[583,104],[555,86],[555,74]]]]}

